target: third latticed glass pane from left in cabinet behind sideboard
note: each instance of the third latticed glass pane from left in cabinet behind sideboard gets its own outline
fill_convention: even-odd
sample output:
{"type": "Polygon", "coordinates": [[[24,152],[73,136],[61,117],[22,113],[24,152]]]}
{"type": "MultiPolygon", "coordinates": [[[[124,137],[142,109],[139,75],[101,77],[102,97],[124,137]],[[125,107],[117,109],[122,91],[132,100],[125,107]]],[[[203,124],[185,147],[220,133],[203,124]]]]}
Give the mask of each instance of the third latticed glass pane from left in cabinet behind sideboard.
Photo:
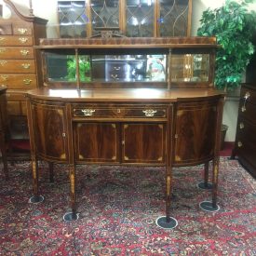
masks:
{"type": "Polygon", "coordinates": [[[154,35],[154,1],[127,0],[127,36],[154,35]]]}

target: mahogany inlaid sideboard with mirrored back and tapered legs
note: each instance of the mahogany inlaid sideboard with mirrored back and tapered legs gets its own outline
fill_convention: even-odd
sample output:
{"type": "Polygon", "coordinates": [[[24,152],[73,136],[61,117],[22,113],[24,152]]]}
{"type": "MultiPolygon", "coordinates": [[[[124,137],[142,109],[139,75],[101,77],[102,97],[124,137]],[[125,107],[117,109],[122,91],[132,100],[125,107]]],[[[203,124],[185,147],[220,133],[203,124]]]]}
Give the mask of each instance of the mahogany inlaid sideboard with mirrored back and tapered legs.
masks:
{"type": "Polygon", "coordinates": [[[76,220],[76,164],[166,168],[166,215],[170,217],[172,168],[204,164],[202,188],[218,210],[217,186],[224,93],[213,88],[214,37],[42,39],[44,87],[29,91],[28,123],[34,196],[38,160],[70,170],[71,209],[76,220]],[[100,75],[99,75],[100,74],[100,75]],[[213,161],[212,184],[209,161],[213,161]]]}

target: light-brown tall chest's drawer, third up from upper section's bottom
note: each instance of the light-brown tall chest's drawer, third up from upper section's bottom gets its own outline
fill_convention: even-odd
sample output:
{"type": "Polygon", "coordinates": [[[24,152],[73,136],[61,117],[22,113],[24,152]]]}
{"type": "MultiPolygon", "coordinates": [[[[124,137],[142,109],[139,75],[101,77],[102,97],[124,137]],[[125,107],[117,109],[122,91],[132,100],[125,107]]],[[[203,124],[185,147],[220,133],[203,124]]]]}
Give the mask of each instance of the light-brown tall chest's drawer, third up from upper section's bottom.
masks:
{"type": "Polygon", "coordinates": [[[34,48],[0,47],[0,59],[34,59],[34,48]]]}

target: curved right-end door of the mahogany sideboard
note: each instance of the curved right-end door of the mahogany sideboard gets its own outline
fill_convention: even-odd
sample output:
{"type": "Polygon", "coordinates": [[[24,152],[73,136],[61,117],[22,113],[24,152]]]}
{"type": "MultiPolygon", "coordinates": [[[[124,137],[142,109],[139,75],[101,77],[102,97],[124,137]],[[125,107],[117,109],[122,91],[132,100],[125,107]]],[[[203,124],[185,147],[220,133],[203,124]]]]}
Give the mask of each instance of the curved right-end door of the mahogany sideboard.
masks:
{"type": "Polygon", "coordinates": [[[178,102],[175,118],[174,164],[209,161],[214,154],[218,101],[178,102]]]}

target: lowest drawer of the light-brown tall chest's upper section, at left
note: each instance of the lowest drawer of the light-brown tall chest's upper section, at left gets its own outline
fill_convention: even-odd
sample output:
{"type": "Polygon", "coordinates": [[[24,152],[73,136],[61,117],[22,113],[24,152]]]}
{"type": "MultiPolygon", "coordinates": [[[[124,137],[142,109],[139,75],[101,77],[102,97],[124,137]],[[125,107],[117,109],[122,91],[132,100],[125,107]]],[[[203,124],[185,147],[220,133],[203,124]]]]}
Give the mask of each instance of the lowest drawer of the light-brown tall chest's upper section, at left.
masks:
{"type": "Polygon", "coordinates": [[[0,74],[0,85],[7,88],[36,88],[35,74],[0,74]]]}

